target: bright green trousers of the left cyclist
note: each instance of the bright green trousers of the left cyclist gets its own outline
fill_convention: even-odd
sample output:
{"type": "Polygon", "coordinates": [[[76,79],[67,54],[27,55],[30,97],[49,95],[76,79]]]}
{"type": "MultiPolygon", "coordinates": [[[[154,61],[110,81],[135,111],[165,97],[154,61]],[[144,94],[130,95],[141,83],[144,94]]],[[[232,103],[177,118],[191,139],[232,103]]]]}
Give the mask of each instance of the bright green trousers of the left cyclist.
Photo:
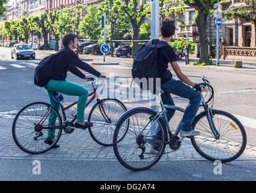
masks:
{"type": "MultiPolygon", "coordinates": [[[[63,93],[64,95],[71,95],[71,96],[79,96],[77,101],[77,121],[85,121],[85,107],[86,102],[88,99],[88,90],[80,86],[78,84],[70,83],[68,81],[64,80],[50,80],[45,85],[45,87],[48,87],[49,89],[55,90],[56,92],[63,93]]],[[[54,103],[53,99],[53,92],[50,90],[47,90],[50,103],[54,103]]],[[[60,104],[56,105],[56,110],[60,110],[60,104]]],[[[53,115],[50,114],[49,116],[49,124],[54,125],[56,121],[56,115],[54,112],[52,112],[53,115]],[[51,120],[51,121],[50,121],[51,120]]],[[[48,130],[47,138],[54,138],[55,137],[55,130],[48,130]]]]}

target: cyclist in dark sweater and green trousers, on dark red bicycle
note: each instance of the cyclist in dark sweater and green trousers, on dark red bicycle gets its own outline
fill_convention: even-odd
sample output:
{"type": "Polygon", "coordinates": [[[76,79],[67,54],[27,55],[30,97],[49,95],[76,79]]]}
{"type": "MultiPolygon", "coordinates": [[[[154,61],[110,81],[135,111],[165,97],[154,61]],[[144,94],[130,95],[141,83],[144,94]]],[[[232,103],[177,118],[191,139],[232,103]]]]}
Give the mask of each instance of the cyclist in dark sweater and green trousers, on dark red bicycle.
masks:
{"type": "MultiPolygon", "coordinates": [[[[54,60],[51,79],[44,87],[51,89],[47,90],[51,104],[54,103],[52,90],[63,93],[65,95],[79,96],[77,101],[77,121],[75,122],[75,127],[83,129],[92,127],[91,122],[85,121],[85,107],[89,92],[83,86],[66,81],[66,75],[69,71],[72,74],[77,75],[77,77],[88,80],[88,77],[78,68],[97,77],[106,78],[106,75],[96,71],[94,68],[92,68],[92,66],[88,65],[88,63],[80,60],[77,54],[75,54],[74,49],[77,48],[78,45],[76,34],[66,33],[62,38],[62,44],[64,47],[60,49],[60,53],[56,55],[56,59],[54,60]]],[[[59,111],[60,104],[57,104],[56,109],[59,111]]],[[[52,120],[51,122],[55,124],[56,118],[52,118],[51,115],[49,118],[52,120]]],[[[46,144],[51,145],[53,143],[55,137],[54,133],[55,130],[48,130],[48,136],[45,140],[46,144]]],[[[56,145],[55,148],[56,147],[59,147],[59,145],[56,145]]]]}

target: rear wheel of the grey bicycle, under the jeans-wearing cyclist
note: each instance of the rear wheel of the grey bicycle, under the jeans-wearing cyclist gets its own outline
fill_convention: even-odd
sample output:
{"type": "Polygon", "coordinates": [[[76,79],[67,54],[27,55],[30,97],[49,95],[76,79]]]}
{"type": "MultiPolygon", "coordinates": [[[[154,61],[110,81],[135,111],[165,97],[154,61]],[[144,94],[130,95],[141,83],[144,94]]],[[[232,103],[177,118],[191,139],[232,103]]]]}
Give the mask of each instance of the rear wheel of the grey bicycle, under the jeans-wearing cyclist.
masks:
{"type": "MultiPolygon", "coordinates": [[[[150,153],[152,145],[148,142],[142,142],[142,138],[144,134],[149,130],[151,124],[146,127],[146,129],[141,133],[141,129],[147,125],[148,122],[151,122],[153,117],[156,116],[156,112],[151,109],[147,108],[135,108],[127,112],[127,115],[124,115],[121,118],[117,128],[114,132],[113,137],[113,147],[115,156],[117,157],[118,161],[132,171],[139,171],[142,169],[149,169],[153,165],[155,165],[159,159],[161,159],[162,154],[164,154],[165,145],[160,144],[159,151],[155,151],[156,155],[150,153]],[[127,128],[127,121],[129,121],[129,127],[127,128]],[[145,122],[147,121],[147,122],[145,122]],[[124,126],[123,126],[124,125],[124,126]],[[124,134],[125,133],[125,134],[124,134]],[[141,133],[141,134],[139,134],[141,133]],[[122,140],[118,141],[122,136],[122,140]],[[139,148],[139,144],[144,145],[146,149],[143,153],[143,157],[141,158],[142,149],[139,148]]],[[[167,131],[164,122],[161,118],[158,119],[156,122],[156,126],[161,127],[162,131],[162,139],[167,141],[167,131]]],[[[153,133],[151,133],[153,135],[153,133]]],[[[151,136],[147,136],[147,139],[152,139],[151,136]]]]}

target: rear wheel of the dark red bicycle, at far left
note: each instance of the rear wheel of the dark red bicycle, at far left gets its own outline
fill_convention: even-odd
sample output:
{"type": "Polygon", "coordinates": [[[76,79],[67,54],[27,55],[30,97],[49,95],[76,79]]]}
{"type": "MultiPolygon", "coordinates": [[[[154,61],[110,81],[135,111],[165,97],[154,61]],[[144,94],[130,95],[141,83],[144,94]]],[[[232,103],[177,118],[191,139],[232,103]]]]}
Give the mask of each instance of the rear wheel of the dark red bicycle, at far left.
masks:
{"type": "MultiPolygon", "coordinates": [[[[48,130],[40,129],[39,121],[42,119],[47,112],[49,112],[51,105],[43,102],[36,102],[28,104],[23,107],[13,121],[12,134],[16,145],[26,153],[30,154],[40,154],[53,148],[55,144],[60,139],[62,134],[62,129],[58,129],[57,134],[55,133],[55,141],[53,144],[45,144],[45,139],[47,138],[48,130]]],[[[59,112],[53,109],[51,118],[54,120],[56,116],[56,125],[62,125],[62,119],[59,112]]],[[[49,116],[45,119],[43,125],[51,124],[49,116]]]]}

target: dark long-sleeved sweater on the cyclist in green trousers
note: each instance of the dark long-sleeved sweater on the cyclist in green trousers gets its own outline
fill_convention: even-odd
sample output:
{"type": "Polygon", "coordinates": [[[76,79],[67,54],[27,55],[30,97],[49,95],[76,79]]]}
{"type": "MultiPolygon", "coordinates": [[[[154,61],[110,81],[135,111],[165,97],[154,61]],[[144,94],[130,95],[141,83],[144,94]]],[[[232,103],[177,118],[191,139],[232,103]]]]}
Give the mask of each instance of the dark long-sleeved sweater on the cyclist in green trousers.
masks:
{"type": "Polygon", "coordinates": [[[60,49],[59,52],[60,53],[57,54],[54,61],[53,74],[51,75],[52,80],[65,80],[68,71],[77,75],[77,77],[85,78],[85,74],[83,74],[78,68],[89,72],[96,77],[100,76],[100,72],[96,71],[88,63],[80,60],[77,54],[75,54],[71,49],[64,47],[60,49]]]}

